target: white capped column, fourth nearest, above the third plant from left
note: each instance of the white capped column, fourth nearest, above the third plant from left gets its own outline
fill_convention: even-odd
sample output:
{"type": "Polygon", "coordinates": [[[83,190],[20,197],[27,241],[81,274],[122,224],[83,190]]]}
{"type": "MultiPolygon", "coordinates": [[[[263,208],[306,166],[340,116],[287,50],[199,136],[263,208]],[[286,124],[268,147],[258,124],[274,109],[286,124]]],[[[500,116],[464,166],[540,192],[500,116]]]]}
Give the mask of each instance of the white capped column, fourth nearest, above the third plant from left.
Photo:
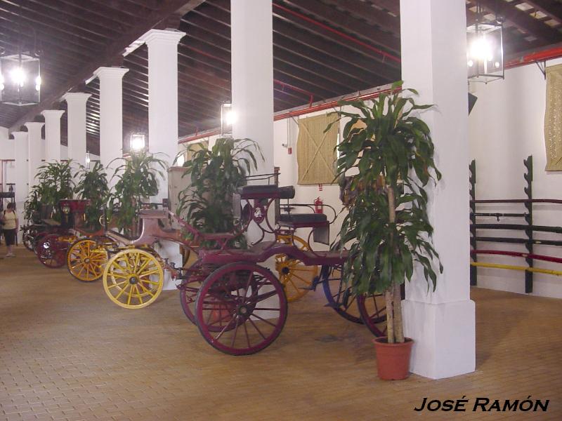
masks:
{"type": "MultiPolygon", "coordinates": [[[[99,67],[93,72],[100,79],[100,161],[105,168],[113,159],[123,156],[123,76],[126,72],[129,69],[122,67],[99,67]]],[[[110,178],[112,173],[107,171],[110,178]]]]}

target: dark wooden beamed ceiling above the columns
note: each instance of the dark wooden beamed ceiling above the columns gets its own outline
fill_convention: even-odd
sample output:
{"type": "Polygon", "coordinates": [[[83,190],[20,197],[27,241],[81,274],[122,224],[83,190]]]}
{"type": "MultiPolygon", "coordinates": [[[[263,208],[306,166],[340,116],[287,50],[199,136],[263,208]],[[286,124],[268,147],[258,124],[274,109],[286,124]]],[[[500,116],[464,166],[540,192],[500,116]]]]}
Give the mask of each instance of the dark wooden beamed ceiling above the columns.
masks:
{"type": "MultiPolygon", "coordinates": [[[[273,0],[275,111],[399,79],[399,3],[273,0]]],[[[485,18],[504,18],[508,59],[562,41],[562,1],[479,3],[485,18]]],[[[467,0],[469,24],[475,12],[476,0],[467,0]]],[[[121,53],[151,27],[187,32],[178,46],[179,134],[218,126],[221,102],[230,100],[230,0],[0,0],[0,48],[37,44],[43,81],[39,106],[0,105],[0,126],[40,121],[41,109],[65,109],[58,99],[66,91],[86,91],[88,149],[97,153],[99,85],[84,81],[97,67],[123,65],[130,69],[123,79],[124,138],[148,131],[146,47],[121,53]]]]}

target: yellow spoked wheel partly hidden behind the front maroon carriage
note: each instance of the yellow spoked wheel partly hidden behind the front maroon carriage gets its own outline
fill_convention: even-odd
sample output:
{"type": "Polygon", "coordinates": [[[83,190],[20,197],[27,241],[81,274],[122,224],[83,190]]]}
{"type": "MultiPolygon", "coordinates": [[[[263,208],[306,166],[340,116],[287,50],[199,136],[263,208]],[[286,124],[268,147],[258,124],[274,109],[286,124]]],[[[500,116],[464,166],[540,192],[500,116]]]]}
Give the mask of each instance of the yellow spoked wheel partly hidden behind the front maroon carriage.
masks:
{"type": "MultiPolygon", "coordinates": [[[[311,249],[306,241],[294,235],[278,235],[277,241],[285,244],[294,243],[299,250],[311,249]]],[[[279,274],[279,280],[285,288],[289,302],[299,300],[308,293],[313,279],[318,276],[317,266],[306,266],[301,260],[289,258],[287,255],[275,256],[275,270],[279,274]]]]}

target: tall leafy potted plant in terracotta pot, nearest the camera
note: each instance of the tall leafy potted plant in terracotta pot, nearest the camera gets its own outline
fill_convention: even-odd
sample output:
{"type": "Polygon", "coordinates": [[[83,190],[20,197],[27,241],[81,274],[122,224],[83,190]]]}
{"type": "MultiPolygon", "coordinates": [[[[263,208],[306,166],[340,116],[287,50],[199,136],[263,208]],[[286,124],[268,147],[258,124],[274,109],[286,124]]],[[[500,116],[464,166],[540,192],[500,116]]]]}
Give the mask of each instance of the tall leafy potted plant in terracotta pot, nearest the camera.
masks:
{"type": "Polygon", "coordinates": [[[412,340],[404,338],[400,286],[412,279],[414,262],[421,265],[428,290],[436,288],[433,263],[443,272],[426,210],[426,187],[441,175],[429,127],[412,114],[431,105],[417,105],[412,98],[417,92],[401,85],[396,83],[372,104],[342,104],[358,109],[356,113],[337,112],[349,121],[337,146],[336,173],[351,173],[353,192],[341,226],[341,243],[351,243],[342,276],[356,294],[384,294],[386,337],[374,341],[379,377],[388,380],[409,373],[412,340]],[[400,353],[401,366],[395,358],[400,353]]]}

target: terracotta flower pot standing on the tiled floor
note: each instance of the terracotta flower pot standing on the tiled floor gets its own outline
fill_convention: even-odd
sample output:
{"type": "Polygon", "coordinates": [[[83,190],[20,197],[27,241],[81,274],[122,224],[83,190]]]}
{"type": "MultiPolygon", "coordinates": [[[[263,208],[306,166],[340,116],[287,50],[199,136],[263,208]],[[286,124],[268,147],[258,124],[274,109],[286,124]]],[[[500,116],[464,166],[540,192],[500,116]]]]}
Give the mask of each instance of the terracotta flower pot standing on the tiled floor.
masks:
{"type": "Polygon", "coordinates": [[[373,340],[377,352],[377,370],[381,380],[403,380],[410,375],[410,354],[414,341],[405,338],[401,344],[389,344],[386,336],[373,340]]]}

